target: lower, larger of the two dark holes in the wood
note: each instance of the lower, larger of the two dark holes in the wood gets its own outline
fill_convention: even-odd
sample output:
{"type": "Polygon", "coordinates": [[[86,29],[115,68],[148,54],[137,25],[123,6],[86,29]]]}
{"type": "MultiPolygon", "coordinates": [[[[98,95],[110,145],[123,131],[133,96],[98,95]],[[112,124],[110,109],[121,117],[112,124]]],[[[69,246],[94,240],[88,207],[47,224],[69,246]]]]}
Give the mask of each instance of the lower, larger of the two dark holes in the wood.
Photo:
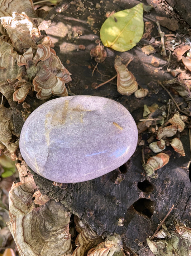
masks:
{"type": "Polygon", "coordinates": [[[140,198],[135,203],[133,203],[134,209],[149,218],[153,215],[156,202],[151,201],[147,198],[140,198]]]}

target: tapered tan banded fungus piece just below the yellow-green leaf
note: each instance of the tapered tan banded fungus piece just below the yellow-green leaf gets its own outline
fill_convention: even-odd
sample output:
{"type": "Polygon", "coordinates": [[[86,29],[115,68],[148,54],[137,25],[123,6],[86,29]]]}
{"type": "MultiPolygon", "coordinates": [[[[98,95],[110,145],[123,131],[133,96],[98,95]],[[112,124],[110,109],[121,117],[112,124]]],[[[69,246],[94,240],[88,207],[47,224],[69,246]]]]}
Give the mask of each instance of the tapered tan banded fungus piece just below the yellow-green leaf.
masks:
{"type": "Polygon", "coordinates": [[[122,95],[131,95],[138,90],[138,84],[133,74],[121,62],[121,57],[115,57],[115,70],[117,76],[117,89],[122,95]]]}

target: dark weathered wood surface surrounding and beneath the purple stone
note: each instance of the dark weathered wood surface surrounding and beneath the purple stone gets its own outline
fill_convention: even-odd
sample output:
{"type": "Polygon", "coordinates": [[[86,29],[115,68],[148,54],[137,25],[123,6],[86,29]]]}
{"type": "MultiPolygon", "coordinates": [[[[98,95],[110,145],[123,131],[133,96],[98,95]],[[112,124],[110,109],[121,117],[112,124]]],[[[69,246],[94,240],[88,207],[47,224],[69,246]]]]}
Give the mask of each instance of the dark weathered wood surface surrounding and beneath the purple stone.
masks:
{"type": "MultiPolygon", "coordinates": [[[[41,28],[51,37],[59,58],[72,73],[72,81],[68,84],[70,94],[97,95],[114,99],[132,113],[137,123],[143,118],[144,104],[157,103],[167,112],[169,96],[157,84],[157,80],[164,81],[172,78],[166,71],[168,62],[161,57],[160,52],[155,53],[154,58],[159,65],[153,66],[151,64],[153,55],[145,55],[140,49],[146,41],[142,40],[138,46],[124,53],[106,49],[108,57],[104,63],[98,65],[99,72],[96,70],[92,76],[92,66],[96,63],[91,59],[90,50],[96,46],[95,40],[99,39],[99,29],[105,20],[105,13],[133,7],[138,4],[138,1],[132,0],[128,3],[122,0],[114,1],[114,3],[103,1],[100,9],[95,8],[96,2],[93,1],[92,3],[83,1],[84,7],[80,6],[80,1],[78,3],[76,5],[61,3],[51,11],[41,28]],[[87,23],[87,20],[91,24],[87,23]],[[85,45],[86,49],[79,50],[79,45],[85,45]],[[134,57],[128,68],[133,72],[139,86],[148,87],[147,97],[137,99],[134,95],[120,95],[116,90],[116,80],[97,90],[92,89],[93,82],[99,84],[116,74],[114,69],[116,54],[126,61],[134,57]]],[[[153,21],[156,12],[157,8],[151,13],[144,14],[144,20],[153,21]]],[[[156,35],[155,28],[153,36],[156,35]]],[[[26,102],[32,105],[33,100],[28,96],[26,102]]],[[[173,106],[171,108],[175,110],[173,106]]],[[[61,201],[73,214],[85,220],[99,235],[119,233],[123,236],[126,247],[138,255],[153,255],[146,246],[145,239],[154,233],[160,220],[165,217],[172,205],[175,205],[175,210],[169,215],[169,219],[178,219],[191,225],[191,197],[187,169],[190,159],[188,129],[180,134],[186,156],[180,157],[178,153],[172,151],[171,147],[167,147],[166,152],[171,154],[168,164],[157,171],[157,179],[147,181],[142,167],[141,151],[143,147],[147,147],[147,139],[152,135],[150,131],[141,134],[145,146],[138,146],[133,157],[119,170],[114,170],[100,178],[67,184],[65,189],[53,186],[51,181],[37,174],[34,174],[34,180],[42,193],[61,201]],[[124,175],[124,180],[115,184],[120,173],[124,175]],[[124,218],[123,226],[118,223],[120,218],[124,218]]]]}

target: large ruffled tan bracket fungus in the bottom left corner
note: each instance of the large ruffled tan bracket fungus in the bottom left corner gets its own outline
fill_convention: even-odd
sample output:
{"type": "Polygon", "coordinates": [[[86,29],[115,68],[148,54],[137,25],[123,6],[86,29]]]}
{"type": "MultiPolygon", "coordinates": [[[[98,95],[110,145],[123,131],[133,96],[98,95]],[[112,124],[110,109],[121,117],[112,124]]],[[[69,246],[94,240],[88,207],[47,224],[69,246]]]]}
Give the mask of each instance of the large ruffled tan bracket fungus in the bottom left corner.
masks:
{"type": "Polygon", "coordinates": [[[9,229],[22,256],[71,255],[70,212],[59,202],[33,202],[35,184],[13,184],[9,192],[9,229]]]}

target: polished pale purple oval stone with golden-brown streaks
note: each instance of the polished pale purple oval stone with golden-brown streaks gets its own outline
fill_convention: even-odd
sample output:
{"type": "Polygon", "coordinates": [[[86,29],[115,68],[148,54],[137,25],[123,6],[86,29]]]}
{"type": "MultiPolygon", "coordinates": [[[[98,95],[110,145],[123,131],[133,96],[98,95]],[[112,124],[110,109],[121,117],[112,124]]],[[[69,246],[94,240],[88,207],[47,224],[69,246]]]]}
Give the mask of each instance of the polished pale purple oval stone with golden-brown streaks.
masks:
{"type": "Polygon", "coordinates": [[[129,111],[98,96],[49,100],[27,118],[20,152],[28,166],[52,181],[91,180],[123,165],[138,140],[129,111]]]}

